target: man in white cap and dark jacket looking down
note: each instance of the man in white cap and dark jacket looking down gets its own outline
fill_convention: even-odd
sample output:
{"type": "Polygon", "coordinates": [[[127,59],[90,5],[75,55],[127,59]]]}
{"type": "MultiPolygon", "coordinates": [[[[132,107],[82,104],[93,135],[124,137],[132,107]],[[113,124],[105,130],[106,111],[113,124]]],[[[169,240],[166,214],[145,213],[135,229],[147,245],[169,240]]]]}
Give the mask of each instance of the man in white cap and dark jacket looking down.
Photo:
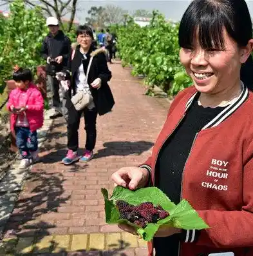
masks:
{"type": "Polygon", "coordinates": [[[46,20],[50,33],[44,38],[42,43],[42,57],[46,59],[47,83],[52,90],[53,108],[55,113],[50,118],[56,118],[64,115],[67,118],[65,105],[66,99],[59,95],[59,81],[55,77],[57,72],[66,70],[68,65],[68,55],[71,50],[71,41],[59,30],[59,22],[55,17],[48,17],[46,20]]]}

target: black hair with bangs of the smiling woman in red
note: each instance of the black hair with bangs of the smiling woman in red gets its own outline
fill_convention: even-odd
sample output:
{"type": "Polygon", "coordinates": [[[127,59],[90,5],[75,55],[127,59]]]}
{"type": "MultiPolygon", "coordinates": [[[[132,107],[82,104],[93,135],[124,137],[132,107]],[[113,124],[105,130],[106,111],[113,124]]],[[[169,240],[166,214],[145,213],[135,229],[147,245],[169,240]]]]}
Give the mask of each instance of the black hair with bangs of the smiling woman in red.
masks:
{"type": "Polygon", "coordinates": [[[238,46],[246,46],[252,39],[252,23],[245,0],[194,0],[179,28],[182,48],[194,48],[194,38],[203,49],[224,48],[223,28],[238,46]]]}

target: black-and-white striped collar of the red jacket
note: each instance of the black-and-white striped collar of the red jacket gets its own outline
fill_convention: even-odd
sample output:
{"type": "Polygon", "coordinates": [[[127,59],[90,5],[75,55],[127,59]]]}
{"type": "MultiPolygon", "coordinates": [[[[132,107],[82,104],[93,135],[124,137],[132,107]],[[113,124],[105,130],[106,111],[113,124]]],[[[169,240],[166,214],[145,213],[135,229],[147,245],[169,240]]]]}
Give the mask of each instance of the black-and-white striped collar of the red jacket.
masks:
{"type": "MultiPolygon", "coordinates": [[[[232,113],[236,112],[236,110],[238,110],[238,108],[248,99],[248,95],[249,95],[248,88],[247,88],[247,86],[245,86],[243,84],[242,81],[241,81],[241,85],[242,85],[243,90],[242,90],[241,94],[239,95],[237,101],[234,102],[233,104],[230,104],[229,106],[227,106],[227,108],[225,108],[223,111],[221,111],[221,113],[216,115],[216,117],[214,117],[214,119],[212,119],[212,121],[210,121],[207,125],[205,125],[201,130],[205,130],[207,128],[212,128],[212,127],[218,126],[218,124],[220,124],[225,119],[230,117],[230,115],[232,115],[232,113]]],[[[199,95],[199,92],[196,92],[187,101],[187,103],[185,105],[185,112],[187,112],[187,110],[190,108],[193,100],[196,97],[198,97],[198,95],[199,95]]]]}

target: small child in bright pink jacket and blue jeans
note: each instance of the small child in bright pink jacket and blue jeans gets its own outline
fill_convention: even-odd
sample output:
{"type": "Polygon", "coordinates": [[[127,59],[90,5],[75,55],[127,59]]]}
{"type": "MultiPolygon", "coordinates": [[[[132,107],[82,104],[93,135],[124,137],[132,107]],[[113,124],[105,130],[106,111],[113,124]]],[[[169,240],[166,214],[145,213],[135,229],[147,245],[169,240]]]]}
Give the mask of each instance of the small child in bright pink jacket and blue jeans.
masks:
{"type": "Polygon", "coordinates": [[[15,67],[13,74],[16,88],[7,103],[10,128],[15,131],[16,144],[21,153],[20,168],[27,168],[38,160],[37,129],[43,125],[44,100],[41,92],[32,83],[32,72],[15,67]]]}

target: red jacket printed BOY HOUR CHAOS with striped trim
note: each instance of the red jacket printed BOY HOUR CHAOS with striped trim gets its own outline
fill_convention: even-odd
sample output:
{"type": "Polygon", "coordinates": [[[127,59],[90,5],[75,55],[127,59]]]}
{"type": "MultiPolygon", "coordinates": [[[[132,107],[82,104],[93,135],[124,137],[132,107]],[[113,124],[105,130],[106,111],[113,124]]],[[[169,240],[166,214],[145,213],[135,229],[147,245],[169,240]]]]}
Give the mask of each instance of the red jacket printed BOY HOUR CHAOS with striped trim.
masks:
{"type": "MultiPolygon", "coordinates": [[[[196,90],[191,87],[174,99],[152,156],[143,164],[152,170],[153,184],[158,153],[191,106],[194,95],[196,90]]],[[[236,103],[227,106],[196,135],[183,170],[181,196],[211,227],[201,230],[196,241],[194,232],[189,231],[188,242],[180,245],[181,256],[221,251],[253,255],[253,94],[247,88],[236,103]]]]}

